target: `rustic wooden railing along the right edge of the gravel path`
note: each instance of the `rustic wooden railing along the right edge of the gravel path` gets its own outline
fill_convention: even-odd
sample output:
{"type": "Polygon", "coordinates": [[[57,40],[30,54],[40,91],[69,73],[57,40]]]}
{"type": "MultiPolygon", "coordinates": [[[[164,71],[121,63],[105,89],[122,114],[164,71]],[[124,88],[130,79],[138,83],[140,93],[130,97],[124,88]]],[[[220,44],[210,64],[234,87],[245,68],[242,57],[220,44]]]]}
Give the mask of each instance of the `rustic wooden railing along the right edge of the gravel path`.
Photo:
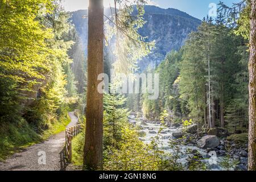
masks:
{"type": "Polygon", "coordinates": [[[81,125],[77,124],[73,127],[68,127],[65,131],[65,147],[64,156],[68,162],[72,161],[72,138],[81,132],[81,125]]]}

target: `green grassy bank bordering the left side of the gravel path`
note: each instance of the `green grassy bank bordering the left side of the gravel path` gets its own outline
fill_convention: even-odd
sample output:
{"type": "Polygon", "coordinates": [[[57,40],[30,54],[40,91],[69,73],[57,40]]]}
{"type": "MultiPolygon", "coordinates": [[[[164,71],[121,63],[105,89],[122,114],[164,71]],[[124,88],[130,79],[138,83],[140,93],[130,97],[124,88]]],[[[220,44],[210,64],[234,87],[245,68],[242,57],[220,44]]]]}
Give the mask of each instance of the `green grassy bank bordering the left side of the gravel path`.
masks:
{"type": "Polygon", "coordinates": [[[15,152],[48,139],[51,135],[64,131],[70,121],[66,114],[60,117],[59,121],[51,123],[42,134],[36,133],[22,117],[16,119],[15,122],[0,123],[0,161],[4,161],[15,152]]]}

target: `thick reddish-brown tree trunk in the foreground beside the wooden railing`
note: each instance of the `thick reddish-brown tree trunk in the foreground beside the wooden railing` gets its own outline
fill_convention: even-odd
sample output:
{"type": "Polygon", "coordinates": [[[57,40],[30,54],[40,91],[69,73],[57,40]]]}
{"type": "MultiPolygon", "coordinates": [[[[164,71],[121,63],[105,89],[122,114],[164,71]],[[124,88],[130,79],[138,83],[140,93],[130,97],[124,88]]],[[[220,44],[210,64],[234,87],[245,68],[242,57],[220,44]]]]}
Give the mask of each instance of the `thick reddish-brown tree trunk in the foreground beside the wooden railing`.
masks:
{"type": "Polygon", "coordinates": [[[103,94],[97,90],[99,74],[104,72],[104,7],[103,0],[89,1],[88,16],[88,85],[84,168],[102,169],[103,94]]]}

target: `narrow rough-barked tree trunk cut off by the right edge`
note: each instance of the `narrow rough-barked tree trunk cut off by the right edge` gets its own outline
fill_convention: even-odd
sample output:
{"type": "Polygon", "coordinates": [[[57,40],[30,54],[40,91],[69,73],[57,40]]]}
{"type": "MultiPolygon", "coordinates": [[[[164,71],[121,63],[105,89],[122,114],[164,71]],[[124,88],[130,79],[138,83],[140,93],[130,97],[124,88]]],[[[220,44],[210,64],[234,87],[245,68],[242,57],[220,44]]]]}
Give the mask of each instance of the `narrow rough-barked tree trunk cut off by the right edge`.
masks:
{"type": "Polygon", "coordinates": [[[256,171],[256,0],[251,0],[250,14],[248,151],[248,169],[250,171],[256,171]]]}

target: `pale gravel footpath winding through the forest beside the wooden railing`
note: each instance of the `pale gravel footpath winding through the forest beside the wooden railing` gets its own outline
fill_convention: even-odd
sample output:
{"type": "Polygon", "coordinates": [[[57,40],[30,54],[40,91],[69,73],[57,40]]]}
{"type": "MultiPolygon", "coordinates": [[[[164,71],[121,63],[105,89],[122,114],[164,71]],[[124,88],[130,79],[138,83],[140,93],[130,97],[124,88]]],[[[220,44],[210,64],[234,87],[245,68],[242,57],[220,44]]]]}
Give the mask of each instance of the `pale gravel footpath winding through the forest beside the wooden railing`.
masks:
{"type": "MultiPolygon", "coordinates": [[[[71,122],[67,127],[76,125],[74,112],[68,113],[71,122]]],[[[65,144],[65,131],[52,135],[42,143],[34,144],[22,152],[18,152],[0,163],[0,170],[6,171],[60,171],[66,165],[62,159],[65,144]],[[45,155],[44,155],[45,154],[45,155]],[[43,157],[46,157],[44,160],[43,157]],[[45,163],[44,163],[45,162],[45,163]],[[40,164],[39,164],[40,163],[40,164]]],[[[69,168],[69,167],[68,167],[69,168]]]]}

